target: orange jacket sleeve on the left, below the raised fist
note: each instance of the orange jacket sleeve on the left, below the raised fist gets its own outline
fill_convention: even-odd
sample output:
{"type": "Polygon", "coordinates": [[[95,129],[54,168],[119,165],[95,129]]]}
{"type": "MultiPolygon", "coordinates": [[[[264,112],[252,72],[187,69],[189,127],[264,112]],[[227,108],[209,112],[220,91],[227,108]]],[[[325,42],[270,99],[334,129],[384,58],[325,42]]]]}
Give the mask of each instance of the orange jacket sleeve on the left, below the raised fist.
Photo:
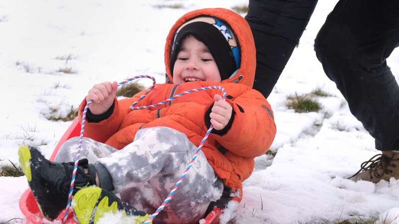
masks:
{"type": "MultiPolygon", "coordinates": [[[[105,142],[109,137],[116,133],[121,126],[123,119],[130,112],[130,105],[137,101],[146,90],[141,91],[132,98],[117,101],[114,100],[114,110],[112,114],[100,122],[87,122],[85,121],[84,136],[92,138],[99,142],[105,142]]],[[[145,101],[145,99],[143,99],[145,101]]],[[[141,102],[145,105],[146,102],[141,102]]],[[[82,101],[78,110],[79,123],[82,123],[83,110],[86,106],[86,99],[82,101]]]]}

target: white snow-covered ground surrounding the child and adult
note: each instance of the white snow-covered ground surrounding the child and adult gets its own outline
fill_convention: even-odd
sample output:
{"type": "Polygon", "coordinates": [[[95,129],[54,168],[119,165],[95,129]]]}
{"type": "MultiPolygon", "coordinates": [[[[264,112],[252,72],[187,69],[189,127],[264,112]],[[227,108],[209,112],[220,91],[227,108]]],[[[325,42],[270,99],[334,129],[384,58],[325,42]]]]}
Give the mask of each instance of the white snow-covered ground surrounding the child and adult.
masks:
{"type": "MultiPolygon", "coordinates": [[[[319,1],[268,98],[277,124],[272,150],[278,153],[272,162],[270,155],[256,159],[233,223],[333,223],[399,216],[399,181],[346,179],[378,151],[313,51],[316,34],[335,3],[319,1]],[[332,95],[319,99],[321,112],[286,108],[288,95],[317,87],[332,95]]],[[[21,144],[39,145],[49,157],[71,122],[46,117],[53,108],[60,109],[53,115],[76,108],[96,83],[139,74],[163,83],[165,38],[185,12],[245,4],[246,0],[0,0],[0,163],[17,162],[21,144]],[[74,73],[59,72],[63,69],[74,73]]],[[[398,77],[398,50],[388,63],[398,77]]],[[[0,177],[0,223],[24,218],[18,200],[26,188],[24,177],[0,177]]]]}

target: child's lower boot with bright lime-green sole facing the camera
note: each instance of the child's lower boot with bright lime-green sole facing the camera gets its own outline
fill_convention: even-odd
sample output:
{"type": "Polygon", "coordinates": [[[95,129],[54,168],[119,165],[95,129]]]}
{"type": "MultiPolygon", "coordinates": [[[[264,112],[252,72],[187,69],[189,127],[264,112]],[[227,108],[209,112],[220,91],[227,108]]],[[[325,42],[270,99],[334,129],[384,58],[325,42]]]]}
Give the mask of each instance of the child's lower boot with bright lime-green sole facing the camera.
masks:
{"type": "Polygon", "coordinates": [[[148,219],[145,212],[122,202],[111,192],[99,187],[79,190],[72,199],[73,211],[80,224],[97,224],[106,213],[121,212],[129,223],[143,223],[148,219]]]}

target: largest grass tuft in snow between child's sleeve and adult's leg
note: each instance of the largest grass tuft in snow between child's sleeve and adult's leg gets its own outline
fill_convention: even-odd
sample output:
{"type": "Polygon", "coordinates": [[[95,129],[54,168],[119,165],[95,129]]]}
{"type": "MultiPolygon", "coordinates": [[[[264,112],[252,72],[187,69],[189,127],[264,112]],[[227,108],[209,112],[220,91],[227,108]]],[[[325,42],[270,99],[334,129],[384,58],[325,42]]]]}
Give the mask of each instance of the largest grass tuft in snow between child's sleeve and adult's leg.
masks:
{"type": "Polygon", "coordinates": [[[319,112],[321,105],[317,100],[314,100],[309,94],[289,96],[286,106],[289,109],[294,109],[297,113],[303,112],[319,112]]]}

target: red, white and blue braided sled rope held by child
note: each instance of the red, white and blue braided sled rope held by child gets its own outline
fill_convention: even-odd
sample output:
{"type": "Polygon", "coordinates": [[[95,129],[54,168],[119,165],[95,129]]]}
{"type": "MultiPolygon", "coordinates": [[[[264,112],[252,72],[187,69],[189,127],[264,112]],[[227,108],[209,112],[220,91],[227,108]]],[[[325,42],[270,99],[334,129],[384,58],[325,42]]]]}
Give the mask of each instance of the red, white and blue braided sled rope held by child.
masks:
{"type": "MultiPolygon", "coordinates": [[[[155,87],[155,78],[152,76],[147,76],[147,75],[140,75],[140,76],[135,76],[132,78],[127,79],[126,81],[120,82],[118,83],[118,86],[124,85],[130,81],[133,81],[135,79],[139,79],[139,78],[148,78],[148,79],[152,79],[153,80],[153,85],[151,87],[149,87],[146,91],[145,94],[143,94],[136,102],[134,102],[131,106],[130,106],[130,110],[144,110],[144,109],[150,109],[150,108],[155,108],[155,107],[159,107],[161,105],[164,105],[170,101],[175,100],[176,98],[182,97],[184,95],[187,94],[191,94],[191,93],[195,93],[195,92],[199,92],[199,91],[206,91],[206,90],[220,90],[222,92],[222,99],[224,100],[226,98],[226,91],[223,87],[221,86],[207,86],[207,87],[202,87],[202,88],[194,88],[192,90],[188,90],[185,91],[183,93],[177,94],[173,97],[170,97],[168,99],[166,99],[165,101],[159,102],[158,104],[153,104],[153,105],[148,105],[148,106],[142,106],[142,107],[134,107],[137,103],[139,103],[139,101],[141,101],[142,99],[144,99],[147,94],[154,89],[155,87]]],[[[76,156],[75,156],[75,160],[74,160],[74,167],[73,167],[73,172],[72,172],[72,179],[71,179],[71,184],[70,184],[70,189],[68,192],[68,202],[66,205],[66,209],[65,209],[65,215],[63,218],[63,224],[66,223],[67,218],[68,218],[68,214],[69,214],[69,210],[71,209],[71,201],[72,201],[72,192],[73,192],[73,187],[75,185],[75,177],[76,177],[76,172],[77,172],[77,167],[78,167],[78,162],[79,162],[79,158],[80,158],[80,150],[82,148],[82,141],[83,141],[83,133],[84,133],[84,126],[85,126],[85,121],[86,121],[86,113],[87,113],[87,109],[89,108],[89,105],[91,103],[93,103],[93,100],[90,100],[89,102],[87,102],[84,110],[83,110],[83,114],[82,114],[82,123],[80,126],[80,136],[79,136],[79,144],[78,144],[78,150],[76,151],[76,156]]],[[[170,200],[172,199],[172,196],[175,194],[176,190],[179,188],[180,184],[183,182],[185,176],[187,175],[187,173],[189,172],[190,168],[192,167],[192,165],[194,164],[194,161],[197,158],[198,153],[200,153],[203,143],[206,141],[206,139],[208,138],[208,135],[210,134],[210,132],[213,129],[213,125],[210,124],[208,130],[205,133],[205,136],[203,137],[203,139],[200,142],[200,145],[198,146],[196,152],[194,153],[190,163],[187,165],[186,170],[183,172],[182,176],[180,176],[180,179],[176,182],[174,188],[171,190],[171,192],[169,193],[168,197],[164,200],[164,202],[161,204],[161,206],[155,211],[154,214],[150,215],[149,218],[147,219],[146,222],[144,222],[143,224],[149,224],[151,221],[154,220],[154,218],[165,208],[165,206],[170,202],[170,200]]]]}

